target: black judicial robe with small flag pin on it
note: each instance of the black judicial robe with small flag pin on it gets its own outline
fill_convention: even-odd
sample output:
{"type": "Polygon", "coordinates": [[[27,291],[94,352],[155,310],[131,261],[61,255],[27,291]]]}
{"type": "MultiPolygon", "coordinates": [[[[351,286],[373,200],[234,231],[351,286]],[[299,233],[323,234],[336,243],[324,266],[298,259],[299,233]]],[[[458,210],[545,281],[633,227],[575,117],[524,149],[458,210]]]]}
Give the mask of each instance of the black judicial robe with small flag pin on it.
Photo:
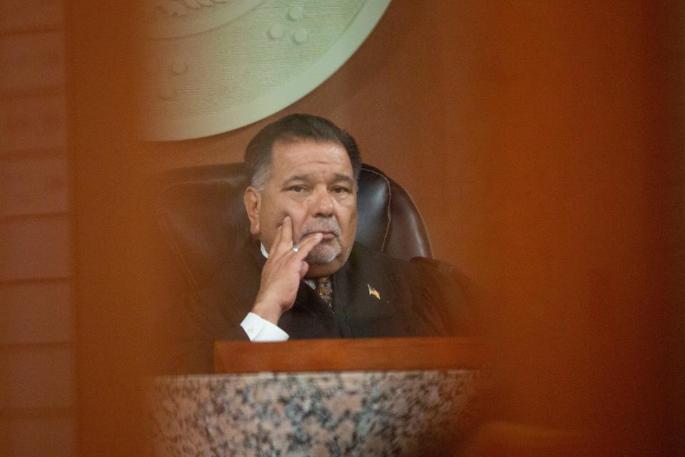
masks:
{"type": "MultiPolygon", "coordinates": [[[[213,343],[247,340],[240,322],[253,306],[265,258],[250,243],[177,306],[163,351],[173,373],[210,373],[213,343]]],[[[355,243],[331,276],[333,308],[300,281],[293,307],[278,326],[291,339],[457,336],[472,331],[465,294],[432,261],[402,261],[355,243]]]]}

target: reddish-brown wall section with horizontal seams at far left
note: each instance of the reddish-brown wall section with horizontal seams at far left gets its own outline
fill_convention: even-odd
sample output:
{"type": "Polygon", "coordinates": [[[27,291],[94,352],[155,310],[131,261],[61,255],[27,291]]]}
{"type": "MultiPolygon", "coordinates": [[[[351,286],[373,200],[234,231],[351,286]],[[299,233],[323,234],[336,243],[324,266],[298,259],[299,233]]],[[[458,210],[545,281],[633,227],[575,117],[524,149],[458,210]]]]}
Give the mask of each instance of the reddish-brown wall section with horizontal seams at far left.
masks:
{"type": "Polygon", "coordinates": [[[61,1],[0,3],[0,454],[76,454],[61,1]]]}

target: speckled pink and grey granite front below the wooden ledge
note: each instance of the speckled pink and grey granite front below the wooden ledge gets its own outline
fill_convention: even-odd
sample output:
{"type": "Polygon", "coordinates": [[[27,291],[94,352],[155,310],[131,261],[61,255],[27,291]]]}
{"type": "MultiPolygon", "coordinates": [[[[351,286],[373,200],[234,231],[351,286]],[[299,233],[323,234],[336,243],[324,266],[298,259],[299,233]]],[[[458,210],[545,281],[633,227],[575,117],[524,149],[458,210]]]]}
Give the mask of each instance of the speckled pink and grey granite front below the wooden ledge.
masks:
{"type": "Polygon", "coordinates": [[[477,371],[156,378],[157,456],[430,456],[473,423],[477,371]]]}

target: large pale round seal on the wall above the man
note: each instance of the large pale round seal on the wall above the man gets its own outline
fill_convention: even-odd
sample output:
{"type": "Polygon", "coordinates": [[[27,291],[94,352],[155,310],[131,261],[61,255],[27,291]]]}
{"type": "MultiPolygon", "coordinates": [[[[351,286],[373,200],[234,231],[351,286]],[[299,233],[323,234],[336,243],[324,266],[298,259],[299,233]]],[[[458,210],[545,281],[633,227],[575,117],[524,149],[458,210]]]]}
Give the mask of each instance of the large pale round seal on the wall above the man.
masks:
{"type": "Polygon", "coordinates": [[[144,139],[219,134],[263,119],[328,79],[390,0],[145,0],[144,139]]]}

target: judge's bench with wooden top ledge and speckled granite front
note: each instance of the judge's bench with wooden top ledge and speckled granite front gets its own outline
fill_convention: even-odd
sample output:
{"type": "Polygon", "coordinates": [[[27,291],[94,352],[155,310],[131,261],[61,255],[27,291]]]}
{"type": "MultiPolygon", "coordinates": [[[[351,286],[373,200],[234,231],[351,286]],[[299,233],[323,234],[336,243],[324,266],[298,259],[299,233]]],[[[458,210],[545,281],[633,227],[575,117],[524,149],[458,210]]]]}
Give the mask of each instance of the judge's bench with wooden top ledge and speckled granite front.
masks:
{"type": "Polygon", "coordinates": [[[450,455],[479,405],[473,338],[220,341],[149,388],[157,456],[450,455]]]}

